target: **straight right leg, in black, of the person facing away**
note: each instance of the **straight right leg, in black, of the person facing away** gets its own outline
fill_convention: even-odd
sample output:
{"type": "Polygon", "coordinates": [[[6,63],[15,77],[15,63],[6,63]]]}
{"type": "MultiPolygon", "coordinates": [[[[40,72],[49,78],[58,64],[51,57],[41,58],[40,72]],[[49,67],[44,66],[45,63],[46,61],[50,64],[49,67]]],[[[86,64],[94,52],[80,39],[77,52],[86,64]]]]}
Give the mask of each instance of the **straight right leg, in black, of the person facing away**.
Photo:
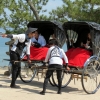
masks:
{"type": "Polygon", "coordinates": [[[62,70],[59,68],[57,71],[57,79],[58,79],[58,94],[61,94],[61,86],[62,86],[62,70]]]}

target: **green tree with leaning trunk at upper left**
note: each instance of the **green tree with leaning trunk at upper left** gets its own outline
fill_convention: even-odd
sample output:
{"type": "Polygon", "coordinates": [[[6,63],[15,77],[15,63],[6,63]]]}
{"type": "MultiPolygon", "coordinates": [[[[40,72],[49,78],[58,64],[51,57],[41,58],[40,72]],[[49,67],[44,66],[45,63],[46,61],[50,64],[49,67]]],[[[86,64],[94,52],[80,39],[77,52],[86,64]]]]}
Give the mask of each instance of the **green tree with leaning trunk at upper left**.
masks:
{"type": "Polygon", "coordinates": [[[3,23],[2,27],[8,34],[14,34],[24,32],[29,21],[40,20],[40,12],[44,11],[42,6],[46,5],[48,0],[2,0],[0,2],[2,8],[0,23],[3,23]]]}

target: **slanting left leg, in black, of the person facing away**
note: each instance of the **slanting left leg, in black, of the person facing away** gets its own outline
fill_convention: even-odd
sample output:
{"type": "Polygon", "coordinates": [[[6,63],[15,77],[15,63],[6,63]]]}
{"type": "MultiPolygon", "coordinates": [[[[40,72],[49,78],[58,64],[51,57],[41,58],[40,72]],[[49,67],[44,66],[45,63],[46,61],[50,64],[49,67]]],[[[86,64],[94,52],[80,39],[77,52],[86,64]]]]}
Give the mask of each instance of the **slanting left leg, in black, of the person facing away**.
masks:
{"type": "Polygon", "coordinates": [[[46,91],[46,87],[47,87],[48,81],[49,81],[49,79],[50,79],[50,77],[51,77],[51,75],[53,74],[53,71],[54,71],[54,70],[49,70],[49,69],[48,69],[48,71],[46,73],[46,78],[45,78],[44,83],[43,83],[43,91],[40,92],[40,94],[42,94],[42,95],[45,95],[45,91],[46,91]]]}

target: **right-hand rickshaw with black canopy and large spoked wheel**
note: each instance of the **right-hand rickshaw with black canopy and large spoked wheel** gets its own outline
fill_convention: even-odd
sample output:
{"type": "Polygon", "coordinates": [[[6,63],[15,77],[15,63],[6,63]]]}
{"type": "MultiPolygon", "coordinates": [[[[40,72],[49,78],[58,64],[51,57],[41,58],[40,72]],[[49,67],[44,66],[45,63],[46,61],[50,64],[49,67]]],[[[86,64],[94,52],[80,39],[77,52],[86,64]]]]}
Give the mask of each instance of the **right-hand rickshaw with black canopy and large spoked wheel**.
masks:
{"type": "MultiPolygon", "coordinates": [[[[86,35],[90,33],[93,52],[93,54],[86,59],[83,68],[80,68],[80,66],[70,66],[71,70],[68,71],[67,74],[71,74],[71,77],[69,77],[69,80],[65,82],[63,87],[70,83],[74,74],[81,75],[81,83],[84,91],[88,94],[94,94],[100,87],[100,25],[94,22],[66,22],[63,24],[63,29],[68,39],[68,48],[70,47],[70,40],[79,44],[81,39],[86,38],[86,35]]],[[[57,86],[55,75],[52,76],[52,79],[57,86]]],[[[65,78],[63,78],[63,80],[65,80],[65,78]]]]}

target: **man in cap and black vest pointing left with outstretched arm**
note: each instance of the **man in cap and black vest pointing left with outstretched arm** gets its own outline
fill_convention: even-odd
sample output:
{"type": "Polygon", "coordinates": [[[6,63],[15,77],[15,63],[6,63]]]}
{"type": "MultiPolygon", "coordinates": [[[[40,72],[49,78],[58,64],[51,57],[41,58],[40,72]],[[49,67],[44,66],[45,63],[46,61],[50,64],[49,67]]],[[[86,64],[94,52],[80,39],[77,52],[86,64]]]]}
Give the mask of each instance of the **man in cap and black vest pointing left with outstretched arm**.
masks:
{"type": "Polygon", "coordinates": [[[20,62],[15,63],[15,61],[20,61],[20,56],[25,46],[26,46],[27,60],[29,63],[31,63],[30,60],[31,38],[33,37],[33,34],[36,30],[37,28],[28,28],[25,34],[18,34],[18,35],[3,34],[2,35],[2,37],[7,37],[15,40],[10,50],[10,61],[12,63],[12,80],[10,84],[11,88],[20,88],[20,86],[15,84],[15,82],[18,75],[20,74],[21,65],[20,62]]]}

